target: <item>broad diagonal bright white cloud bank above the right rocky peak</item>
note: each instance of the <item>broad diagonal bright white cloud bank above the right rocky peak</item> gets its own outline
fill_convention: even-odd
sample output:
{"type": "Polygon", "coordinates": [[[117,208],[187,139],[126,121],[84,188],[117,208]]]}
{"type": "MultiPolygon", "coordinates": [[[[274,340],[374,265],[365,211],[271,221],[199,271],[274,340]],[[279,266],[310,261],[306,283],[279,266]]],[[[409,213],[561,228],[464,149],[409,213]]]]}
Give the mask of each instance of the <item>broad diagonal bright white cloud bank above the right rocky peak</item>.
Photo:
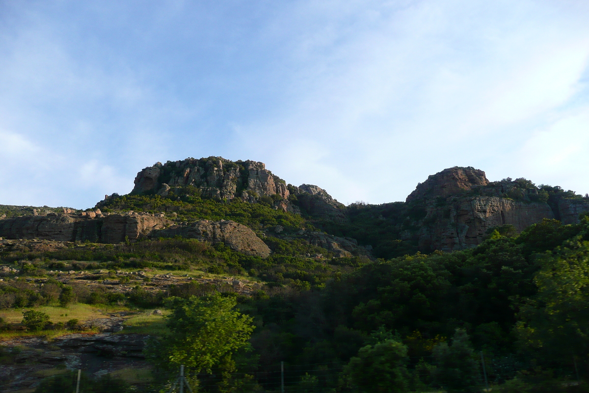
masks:
{"type": "Polygon", "coordinates": [[[392,202],[445,167],[493,173],[497,157],[513,166],[517,155],[505,152],[584,88],[589,29],[579,15],[551,14],[550,4],[422,1],[391,12],[369,2],[372,14],[350,4],[336,22],[293,37],[304,64],[286,92],[292,102],[241,125],[272,141],[249,151],[274,165],[297,138],[321,146],[301,159],[322,168],[325,176],[311,176],[343,202],[357,199],[350,183],[369,202],[392,202]]]}

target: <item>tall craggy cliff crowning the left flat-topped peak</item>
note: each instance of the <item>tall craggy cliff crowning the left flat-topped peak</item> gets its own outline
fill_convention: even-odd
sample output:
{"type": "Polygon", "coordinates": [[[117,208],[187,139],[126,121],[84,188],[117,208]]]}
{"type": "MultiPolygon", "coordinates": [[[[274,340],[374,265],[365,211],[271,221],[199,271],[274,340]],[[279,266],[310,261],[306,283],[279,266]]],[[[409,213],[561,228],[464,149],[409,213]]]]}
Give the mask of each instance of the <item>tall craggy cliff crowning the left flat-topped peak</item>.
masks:
{"type": "Polygon", "coordinates": [[[186,186],[196,187],[205,197],[219,199],[240,197],[256,202],[260,197],[273,197],[275,202],[282,200],[280,206],[286,204],[289,197],[284,180],[274,176],[264,163],[233,162],[222,157],[186,158],[168,161],[164,165],[156,163],[137,174],[132,193],[154,192],[165,196],[174,187],[186,186]]]}

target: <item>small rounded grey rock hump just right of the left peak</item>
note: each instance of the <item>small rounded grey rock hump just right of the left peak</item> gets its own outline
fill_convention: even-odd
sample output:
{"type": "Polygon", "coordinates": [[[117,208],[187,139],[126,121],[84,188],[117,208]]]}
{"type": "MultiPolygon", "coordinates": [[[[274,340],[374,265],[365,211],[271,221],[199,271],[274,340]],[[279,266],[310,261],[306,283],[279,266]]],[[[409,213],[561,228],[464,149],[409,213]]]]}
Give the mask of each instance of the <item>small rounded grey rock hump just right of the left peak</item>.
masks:
{"type": "Polygon", "coordinates": [[[309,216],[317,219],[329,220],[336,223],[345,223],[346,206],[333,199],[327,191],[312,184],[299,186],[297,194],[298,204],[309,216]]]}

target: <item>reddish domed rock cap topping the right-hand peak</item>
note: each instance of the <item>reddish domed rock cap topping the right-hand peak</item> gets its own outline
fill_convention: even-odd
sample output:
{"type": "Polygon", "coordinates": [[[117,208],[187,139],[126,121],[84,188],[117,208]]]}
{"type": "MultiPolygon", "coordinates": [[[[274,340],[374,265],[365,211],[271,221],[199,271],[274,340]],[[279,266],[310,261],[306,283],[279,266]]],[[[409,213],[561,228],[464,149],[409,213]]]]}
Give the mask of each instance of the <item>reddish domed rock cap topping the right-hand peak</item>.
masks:
{"type": "Polygon", "coordinates": [[[489,180],[482,170],[473,167],[448,168],[432,174],[428,180],[418,184],[415,191],[409,194],[406,202],[458,195],[475,186],[487,186],[487,184],[489,184],[489,180]]]}

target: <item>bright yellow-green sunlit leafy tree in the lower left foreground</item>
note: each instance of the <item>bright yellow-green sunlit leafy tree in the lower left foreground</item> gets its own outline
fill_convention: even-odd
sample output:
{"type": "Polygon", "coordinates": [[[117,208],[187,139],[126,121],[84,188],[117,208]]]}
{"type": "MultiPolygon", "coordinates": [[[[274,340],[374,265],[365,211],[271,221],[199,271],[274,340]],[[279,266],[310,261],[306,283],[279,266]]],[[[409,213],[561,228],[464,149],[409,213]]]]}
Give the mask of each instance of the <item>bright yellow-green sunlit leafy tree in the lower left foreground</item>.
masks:
{"type": "Polygon", "coordinates": [[[160,349],[150,346],[152,357],[174,368],[186,365],[197,373],[211,372],[216,365],[234,367],[231,355],[249,344],[254,329],[253,318],[235,311],[236,304],[234,298],[220,295],[204,300],[171,298],[170,334],[157,344],[160,349]]]}

